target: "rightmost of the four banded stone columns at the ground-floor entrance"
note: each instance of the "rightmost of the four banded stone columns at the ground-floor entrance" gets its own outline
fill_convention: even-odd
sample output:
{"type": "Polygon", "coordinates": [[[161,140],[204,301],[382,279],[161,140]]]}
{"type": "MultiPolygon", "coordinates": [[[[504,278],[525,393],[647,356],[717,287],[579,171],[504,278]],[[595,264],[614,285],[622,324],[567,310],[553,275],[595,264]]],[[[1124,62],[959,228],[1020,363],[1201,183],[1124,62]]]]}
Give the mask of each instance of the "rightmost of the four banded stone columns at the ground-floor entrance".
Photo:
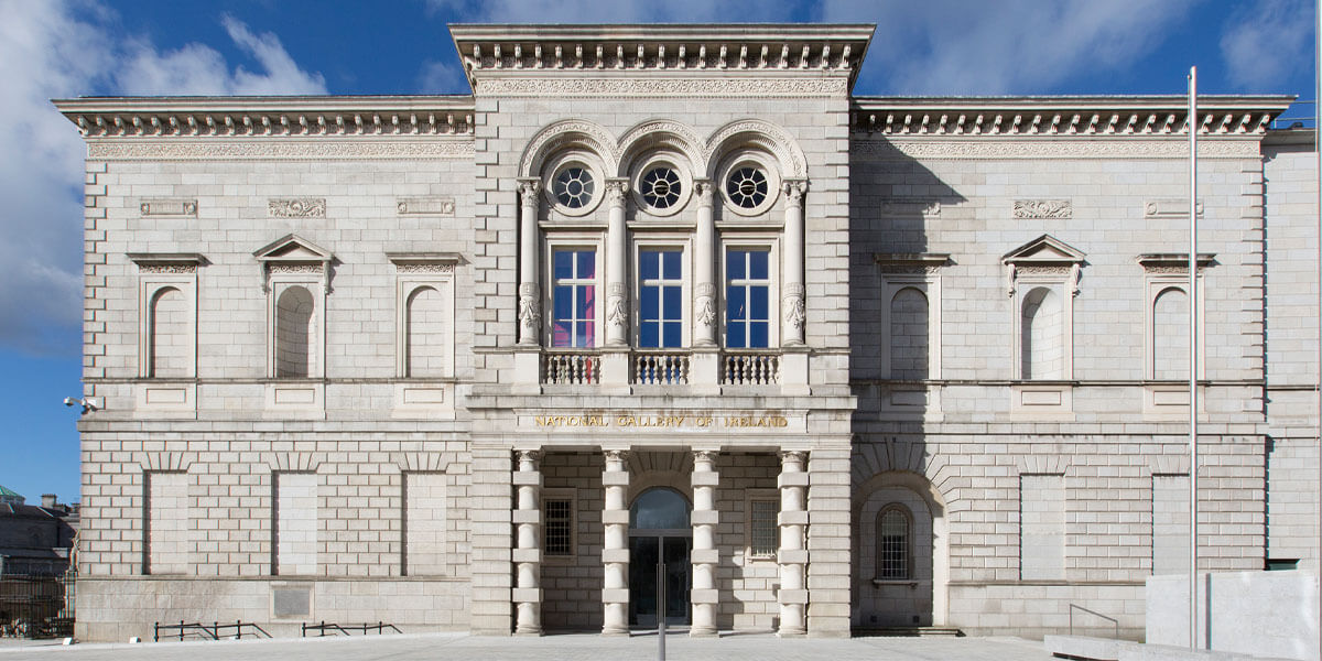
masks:
{"type": "Polygon", "coordinates": [[[780,631],[777,635],[802,636],[805,633],[805,607],[808,590],[804,572],[808,567],[808,550],[804,547],[804,531],[808,527],[808,509],[804,497],[808,490],[808,473],[804,472],[806,452],[780,453],[780,551],[776,562],[780,564],[780,631]]]}

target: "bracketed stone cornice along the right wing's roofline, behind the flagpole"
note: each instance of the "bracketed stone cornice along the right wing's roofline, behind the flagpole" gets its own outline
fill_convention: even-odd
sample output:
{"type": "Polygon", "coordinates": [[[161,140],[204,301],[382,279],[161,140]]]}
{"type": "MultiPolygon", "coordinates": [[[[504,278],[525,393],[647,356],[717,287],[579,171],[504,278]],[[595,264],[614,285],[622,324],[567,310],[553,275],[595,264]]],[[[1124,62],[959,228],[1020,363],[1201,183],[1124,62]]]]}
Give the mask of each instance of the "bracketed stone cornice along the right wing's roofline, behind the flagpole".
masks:
{"type": "MultiPolygon", "coordinates": [[[[1199,134],[1264,135],[1294,97],[1200,97],[1199,134]]],[[[863,135],[1187,135],[1187,97],[854,99],[863,135]]]]}

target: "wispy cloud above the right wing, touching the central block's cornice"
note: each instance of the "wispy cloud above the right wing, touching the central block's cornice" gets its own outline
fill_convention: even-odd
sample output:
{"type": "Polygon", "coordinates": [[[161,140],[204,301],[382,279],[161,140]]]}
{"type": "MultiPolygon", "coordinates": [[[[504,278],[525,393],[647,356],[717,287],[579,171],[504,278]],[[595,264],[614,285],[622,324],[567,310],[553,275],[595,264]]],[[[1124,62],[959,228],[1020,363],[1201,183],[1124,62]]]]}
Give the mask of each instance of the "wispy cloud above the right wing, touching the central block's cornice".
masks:
{"type": "Polygon", "coordinates": [[[1150,53],[1194,0],[828,0],[876,22],[863,85],[880,94],[1043,94],[1150,53]]]}

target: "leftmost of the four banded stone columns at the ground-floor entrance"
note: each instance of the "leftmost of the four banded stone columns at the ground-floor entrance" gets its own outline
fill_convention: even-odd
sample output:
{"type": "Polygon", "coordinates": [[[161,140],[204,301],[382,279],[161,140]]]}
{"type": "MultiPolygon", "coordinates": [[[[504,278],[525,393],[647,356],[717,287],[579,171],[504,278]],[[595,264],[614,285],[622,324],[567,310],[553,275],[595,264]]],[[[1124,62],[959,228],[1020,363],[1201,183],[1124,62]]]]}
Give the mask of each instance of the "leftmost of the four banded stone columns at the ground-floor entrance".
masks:
{"type": "Polygon", "coordinates": [[[518,526],[514,549],[514,633],[539,636],[542,633],[542,473],[537,463],[542,453],[535,449],[517,452],[518,471],[513,475],[518,489],[514,525],[518,526]]]}

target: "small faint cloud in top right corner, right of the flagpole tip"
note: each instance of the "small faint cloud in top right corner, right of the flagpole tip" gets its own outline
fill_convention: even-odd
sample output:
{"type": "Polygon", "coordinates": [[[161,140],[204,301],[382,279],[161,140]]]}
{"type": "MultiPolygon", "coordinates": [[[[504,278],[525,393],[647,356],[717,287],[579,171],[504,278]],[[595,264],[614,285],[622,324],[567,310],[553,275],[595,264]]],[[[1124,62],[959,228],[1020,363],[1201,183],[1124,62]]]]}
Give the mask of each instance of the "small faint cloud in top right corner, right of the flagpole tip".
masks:
{"type": "Polygon", "coordinates": [[[1225,78],[1241,90],[1274,90],[1313,63],[1313,3],[1259,0],[1232,12],[1222,34],[1225,78]]]}

